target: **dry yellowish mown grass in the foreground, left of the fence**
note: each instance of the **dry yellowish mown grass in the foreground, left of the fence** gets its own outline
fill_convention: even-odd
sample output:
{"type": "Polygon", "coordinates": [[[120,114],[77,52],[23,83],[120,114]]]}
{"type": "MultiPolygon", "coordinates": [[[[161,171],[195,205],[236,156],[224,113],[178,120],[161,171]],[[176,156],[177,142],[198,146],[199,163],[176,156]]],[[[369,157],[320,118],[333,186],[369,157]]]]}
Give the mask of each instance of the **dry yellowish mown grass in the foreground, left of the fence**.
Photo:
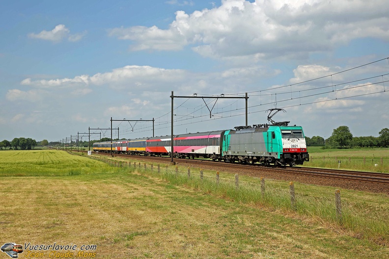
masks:
{"type": "Polygon", "coordinates": [[[134,170],[1,177],[0,240],[96,244],[96,258],[389,255],[385,247],[331,226],[175,186],[134,170]]]}

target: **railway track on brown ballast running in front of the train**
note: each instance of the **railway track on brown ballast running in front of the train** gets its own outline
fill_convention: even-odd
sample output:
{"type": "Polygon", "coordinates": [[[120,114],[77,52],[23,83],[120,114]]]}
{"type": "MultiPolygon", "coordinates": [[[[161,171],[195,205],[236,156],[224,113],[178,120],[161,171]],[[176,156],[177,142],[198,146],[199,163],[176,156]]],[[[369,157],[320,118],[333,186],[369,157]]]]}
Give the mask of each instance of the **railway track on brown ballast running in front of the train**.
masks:
{"type": "MultiPolygon", "coordinates": [[[[109,153],[95,153],[100,155],[111,155],[109,153]]],[[[114,154],[114,156],[129,157],[129,155],[114,154]]],[[[131,158],[142,160],[160,161],[169,163],[170,157],[131,155],[131,158]]],[[[254,177],[272,177],[280,180],[302,181],[313,184],[325,184],[358,190],[373,190],[389,194],[389,174],[346,171],[336,169],[322,169],[310,167],[271,167],[259,164],[236,164],[225,162],[214,162],[203,159],[174,158],[179,165],[188,165],[202,169],[213,169],[226,172],[250,175],[254,177]],[[293,180],[297,179],[297,180],[293,180]],[[317,179],[316,181],[314,179],[317,179]],[[319,180],[318,180],[319,179],[319,180]],[[320,180],[321,179],[321,180],[320,180]],[[323,180],[324,179],[324,180],[323,180]],[[347,182],[346,184],[344,182],[347,182]],[[379,187],[374,187],[379,186],[379,187]],[[378,190],[378,191],[377,191],[378,190]]]]}

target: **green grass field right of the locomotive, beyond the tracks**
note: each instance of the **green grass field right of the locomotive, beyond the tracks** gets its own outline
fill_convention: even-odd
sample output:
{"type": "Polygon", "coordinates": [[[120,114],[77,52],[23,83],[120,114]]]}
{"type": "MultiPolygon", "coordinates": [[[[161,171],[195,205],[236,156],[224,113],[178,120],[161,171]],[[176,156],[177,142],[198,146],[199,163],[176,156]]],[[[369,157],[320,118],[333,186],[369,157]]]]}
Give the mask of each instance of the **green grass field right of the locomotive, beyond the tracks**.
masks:
{"type": "Polygon", "coordinates": [[[310,161],[304,166],[389,173],[389,149],[308,147],[308,153],[310,161]]]}

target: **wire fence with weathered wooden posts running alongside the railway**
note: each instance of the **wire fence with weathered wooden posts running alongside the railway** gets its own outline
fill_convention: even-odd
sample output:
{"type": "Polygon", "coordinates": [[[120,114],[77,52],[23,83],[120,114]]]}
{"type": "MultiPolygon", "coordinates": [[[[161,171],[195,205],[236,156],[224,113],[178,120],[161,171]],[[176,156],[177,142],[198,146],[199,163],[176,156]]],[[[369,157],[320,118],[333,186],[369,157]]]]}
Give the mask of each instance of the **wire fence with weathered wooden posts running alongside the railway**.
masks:
{"type": "MultiPolygon", "coordinates": [[[[101,159],[99,159],[101,160],[101,159]]],[[[309,215],[346,227],[364,236],[389,238],[388,197],[372,194],[372,197],[353,195],[339,189],[333,192],[306,188],[293,181],[254,179],[238,174],[220,174],[190,167],[122,162],[103,159],[116,167],[127,167],[177,185],[189,186],[207,193],[227,197],[245,204],[260,204],[272,209],[286,209],[301,215],[309,215]]],[[[326,188],[328,190],[328,188],[326,188]]]]}

